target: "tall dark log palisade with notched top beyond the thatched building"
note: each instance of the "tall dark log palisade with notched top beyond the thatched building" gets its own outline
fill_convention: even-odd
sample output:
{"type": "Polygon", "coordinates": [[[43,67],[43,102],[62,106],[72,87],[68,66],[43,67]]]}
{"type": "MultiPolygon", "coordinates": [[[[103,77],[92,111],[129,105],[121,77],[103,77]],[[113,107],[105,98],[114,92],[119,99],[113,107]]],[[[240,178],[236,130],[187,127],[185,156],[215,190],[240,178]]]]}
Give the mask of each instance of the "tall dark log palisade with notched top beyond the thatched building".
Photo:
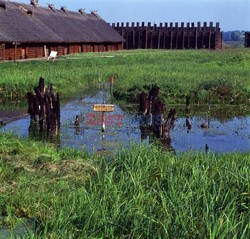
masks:
{"type": "Polygon", "coordinates": [[[222,33],[219,23],[204,22],[160,23],[159,25],[113,23],[112,27],[125,39],[123,49],[221,49],[222,33]]]}

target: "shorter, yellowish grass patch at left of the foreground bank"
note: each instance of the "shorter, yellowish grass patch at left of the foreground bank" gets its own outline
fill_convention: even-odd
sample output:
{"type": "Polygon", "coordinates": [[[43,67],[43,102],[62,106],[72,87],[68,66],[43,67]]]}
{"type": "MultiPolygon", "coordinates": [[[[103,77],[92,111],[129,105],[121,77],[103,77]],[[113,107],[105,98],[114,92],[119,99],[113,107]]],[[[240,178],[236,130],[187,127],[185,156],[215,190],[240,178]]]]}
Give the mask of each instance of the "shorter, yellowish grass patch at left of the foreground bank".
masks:
{"type": "Polygon", "coordinates": [[[70,193],[84,188],[87,178],[96,174],[95,160],[89,159],[85,152],[0,134],[0,218],[4,217],[4,224],[13,228],[23,218],[35,218],[40,230],[70,193]]]}

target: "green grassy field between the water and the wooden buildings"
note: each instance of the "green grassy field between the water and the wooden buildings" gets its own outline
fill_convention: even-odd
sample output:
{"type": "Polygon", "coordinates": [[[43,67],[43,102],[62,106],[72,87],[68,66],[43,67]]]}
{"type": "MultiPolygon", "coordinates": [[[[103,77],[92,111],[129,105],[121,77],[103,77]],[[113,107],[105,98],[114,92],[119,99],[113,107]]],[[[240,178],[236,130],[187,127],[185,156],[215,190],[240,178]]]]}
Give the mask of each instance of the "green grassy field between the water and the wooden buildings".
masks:
{"type": "Polygon", "coordinates": [[[116,75],[115,96],[134,100],[152,84],[161,88],[168,102],[243,103],[250,98],[250,50],[138,50],[67,56],[56,62],[33,61],[0,64],[0,98],[24,97],[40,76],[65,96],[72,96],[89,83],[116,75]]]}

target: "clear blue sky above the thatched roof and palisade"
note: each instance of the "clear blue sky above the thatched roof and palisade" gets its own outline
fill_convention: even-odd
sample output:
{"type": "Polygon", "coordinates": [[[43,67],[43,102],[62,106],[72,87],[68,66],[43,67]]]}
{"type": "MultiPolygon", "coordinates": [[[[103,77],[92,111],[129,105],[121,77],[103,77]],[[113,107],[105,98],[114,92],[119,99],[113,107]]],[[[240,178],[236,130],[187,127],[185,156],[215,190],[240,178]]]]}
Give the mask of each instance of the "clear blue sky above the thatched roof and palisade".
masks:
{"type": "MultiPolygon", "coordinates": [[[[13,0],[29,3],[29,0],[13,0]]],[[[39,0],[77,11],[97,10],[113,22],[220,22],[222,31],[250,31],[250,0],[39,0]]]]}

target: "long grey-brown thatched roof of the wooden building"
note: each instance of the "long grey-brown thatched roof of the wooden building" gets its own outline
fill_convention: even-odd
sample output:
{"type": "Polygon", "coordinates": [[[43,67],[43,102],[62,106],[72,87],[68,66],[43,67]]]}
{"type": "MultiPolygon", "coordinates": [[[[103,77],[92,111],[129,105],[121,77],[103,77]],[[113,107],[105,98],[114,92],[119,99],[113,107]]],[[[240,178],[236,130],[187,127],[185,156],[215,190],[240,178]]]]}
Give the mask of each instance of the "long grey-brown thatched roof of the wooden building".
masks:
{"type": "Polygon", "coordinates": [[[95,12],[86,14],[0,0],[0,43],[121,42],[95,12]]]}

